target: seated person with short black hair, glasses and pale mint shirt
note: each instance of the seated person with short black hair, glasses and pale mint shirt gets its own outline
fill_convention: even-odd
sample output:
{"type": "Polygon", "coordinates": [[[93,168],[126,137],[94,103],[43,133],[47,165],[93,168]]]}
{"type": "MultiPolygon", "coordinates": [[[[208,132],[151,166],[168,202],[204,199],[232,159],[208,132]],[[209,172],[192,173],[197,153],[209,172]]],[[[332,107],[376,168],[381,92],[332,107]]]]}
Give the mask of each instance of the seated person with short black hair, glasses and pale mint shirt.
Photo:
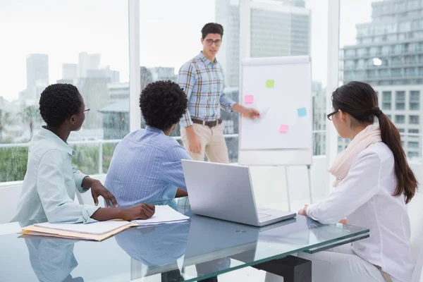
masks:
{"type": "Polygon", "coordinates": [[[89,110],[73,85],[49,85],[42,92],[39,114],[47,125],[30,142],[18,213],[12,221],[47,218],[51,223],[90,223],[148,219],[154,214],[150,204],[118,208],[115,197],[99,180],[72,167],[75,151],[66,141],[72,131],[80,130],[89,110]],[[86,192],[90,188],[95,206],[76,204],[75,191],[86,192]],[[99,196],[104,197],[108,208],[98,207],[99,196]],[[114,208],[109,208],[110,202],[114,208]]]}

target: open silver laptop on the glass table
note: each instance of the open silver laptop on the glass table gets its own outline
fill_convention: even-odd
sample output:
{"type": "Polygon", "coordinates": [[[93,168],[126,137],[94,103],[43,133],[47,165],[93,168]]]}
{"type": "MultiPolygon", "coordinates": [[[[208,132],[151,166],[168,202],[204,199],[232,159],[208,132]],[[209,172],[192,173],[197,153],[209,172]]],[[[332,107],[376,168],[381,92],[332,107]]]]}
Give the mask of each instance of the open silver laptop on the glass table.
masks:
{"type": "Polygon", "coordinates": [[[182,167],[193,214],[251,226],[266,226],[296,215],[256,207],[248,166],[183,159],[182,167]]]}

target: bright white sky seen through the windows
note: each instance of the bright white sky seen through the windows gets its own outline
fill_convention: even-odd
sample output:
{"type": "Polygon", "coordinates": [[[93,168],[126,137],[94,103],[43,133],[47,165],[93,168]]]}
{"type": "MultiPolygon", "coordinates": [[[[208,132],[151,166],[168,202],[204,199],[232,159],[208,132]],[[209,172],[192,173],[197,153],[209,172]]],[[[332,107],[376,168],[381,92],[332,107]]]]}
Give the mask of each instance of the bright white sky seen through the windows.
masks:
{"type": "MultiPolygon", "coordinates": [[[[306,0],[312,11],[313,80],[323,85],[328,1],[306,0]]],[[[371,20],[371,3],[341,0],[341,47],[355,43],[357,23],[371,20]]],[[[215,20],[215,9],[215,0],[140,0],[140,65],[178,71],[201,50],[200,29],[215,20]]],[[[101,54],[101,65],[128,81],[128,1],[0,0],[0,38],[0,96],[9,101],[26,87],[27,54],[49,54],[50,83],[61,79],[62,63],[78,63],[81,51],[101,54]]]]}

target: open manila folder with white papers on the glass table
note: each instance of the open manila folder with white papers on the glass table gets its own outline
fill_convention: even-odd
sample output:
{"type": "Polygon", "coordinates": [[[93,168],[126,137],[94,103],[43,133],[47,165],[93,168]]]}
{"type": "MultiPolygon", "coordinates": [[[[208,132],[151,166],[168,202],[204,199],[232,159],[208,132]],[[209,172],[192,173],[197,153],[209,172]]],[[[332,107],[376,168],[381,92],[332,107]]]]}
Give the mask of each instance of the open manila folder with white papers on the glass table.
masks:
{"type": "Polygon", "coordinates": [[[68,239],[102,241],[133,226],[151,226],[157,224],[180,223],[189,217],[176,212],[169,206],[156,206],[150,219],[136,221],[98,221],[94,223],[35,223],[22,228],[21,234],[60,237],[68,239]]]}

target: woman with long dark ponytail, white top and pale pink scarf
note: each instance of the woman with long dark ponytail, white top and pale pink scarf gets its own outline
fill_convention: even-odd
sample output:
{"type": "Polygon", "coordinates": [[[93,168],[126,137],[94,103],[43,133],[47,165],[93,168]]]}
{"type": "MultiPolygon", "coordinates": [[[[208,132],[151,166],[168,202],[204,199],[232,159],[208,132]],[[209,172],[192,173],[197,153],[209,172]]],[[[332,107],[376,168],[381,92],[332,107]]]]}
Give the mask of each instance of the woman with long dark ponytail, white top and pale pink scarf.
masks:
{"type": "Polygon", "coordinates": [[[417,180],[407,164],[400,133],[379,109],[376,92],[367,83],[339,87],[332,94],[332,105],[329,120],[351,142],[329,168],[336,177],[331,195],[298,214],[321,223],[346,218],[348,224],[369,228],[370,238],[298,256],[312,260],[315,282],[410,281],[415,262],[406,204],[415,195],[417,180]]]}

